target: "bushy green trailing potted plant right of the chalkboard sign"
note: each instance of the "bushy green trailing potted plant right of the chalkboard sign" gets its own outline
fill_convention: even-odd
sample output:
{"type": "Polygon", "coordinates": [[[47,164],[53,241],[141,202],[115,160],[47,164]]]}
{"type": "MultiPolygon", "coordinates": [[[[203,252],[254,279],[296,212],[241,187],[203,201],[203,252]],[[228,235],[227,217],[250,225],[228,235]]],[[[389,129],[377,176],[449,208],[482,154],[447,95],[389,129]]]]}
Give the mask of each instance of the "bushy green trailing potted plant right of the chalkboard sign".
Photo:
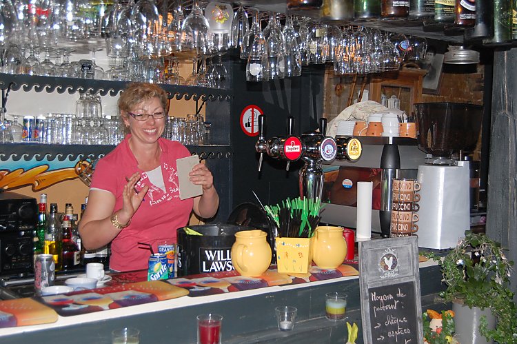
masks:
{"type": "MultiPolygon", "coordinates": [[[[487,316],[469,319],[478,322],[479,333],[498,343],[517,343],[517,307],[509,287],[513,262],[508,261],[499,243],[483,234],[465,232],[465,238],[445,257],[425,254],[438,261],[447,289],[440,293],[454,307],[487,310],[496,319],[490,328],[487,316]]],[[[460,330],[456,312],[456,334],[460,330]]],[[[472,328],[472,327],[471,327],[472,328]]],[[[471,331],[472,332],[472,331],[471,331]]]]}

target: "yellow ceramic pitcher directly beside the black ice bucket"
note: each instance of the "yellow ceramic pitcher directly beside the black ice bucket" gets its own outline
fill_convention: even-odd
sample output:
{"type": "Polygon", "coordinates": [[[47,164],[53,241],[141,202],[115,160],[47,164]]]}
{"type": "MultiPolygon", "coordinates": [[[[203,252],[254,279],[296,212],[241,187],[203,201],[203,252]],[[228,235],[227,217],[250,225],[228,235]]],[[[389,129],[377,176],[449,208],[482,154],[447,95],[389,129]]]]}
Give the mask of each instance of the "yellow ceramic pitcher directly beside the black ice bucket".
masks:
{"type": "Polygon", "coordinates": [[[267,234],[261,230],[243,230],[235,233],[232,245],[232,264],[242,276],[260,276],[271,263],[271,247],[267,234]]]}

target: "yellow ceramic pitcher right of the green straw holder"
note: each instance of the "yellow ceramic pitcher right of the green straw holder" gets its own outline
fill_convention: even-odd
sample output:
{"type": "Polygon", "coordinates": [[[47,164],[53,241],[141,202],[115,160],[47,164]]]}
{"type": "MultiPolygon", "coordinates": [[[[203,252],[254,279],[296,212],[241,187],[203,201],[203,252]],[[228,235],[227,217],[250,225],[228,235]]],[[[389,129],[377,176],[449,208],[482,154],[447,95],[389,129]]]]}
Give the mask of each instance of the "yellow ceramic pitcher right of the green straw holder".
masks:
{"type": "Polygon", "coordinates": [[[347,243],[343,228],[319,226],[312,237],[312,261],[322,269],[335,269],[347,256],[347,243]]]}

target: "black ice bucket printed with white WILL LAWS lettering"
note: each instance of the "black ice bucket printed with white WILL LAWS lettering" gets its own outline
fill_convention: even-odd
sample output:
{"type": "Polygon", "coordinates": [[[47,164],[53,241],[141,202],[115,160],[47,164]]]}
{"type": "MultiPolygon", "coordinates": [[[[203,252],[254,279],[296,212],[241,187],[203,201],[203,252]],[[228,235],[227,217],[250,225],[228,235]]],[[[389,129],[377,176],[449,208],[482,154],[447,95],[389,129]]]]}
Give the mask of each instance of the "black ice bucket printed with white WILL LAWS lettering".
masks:
{"type": "Polygon", "coordinates": [[[178,276],[204,274],[234,270],[230,254],[235,242],[235,233],[255,230],[244,225],[192,225],[190,229],[201,235],[190,235],[185,227],[179,228],[178,235],[178,276]]]}

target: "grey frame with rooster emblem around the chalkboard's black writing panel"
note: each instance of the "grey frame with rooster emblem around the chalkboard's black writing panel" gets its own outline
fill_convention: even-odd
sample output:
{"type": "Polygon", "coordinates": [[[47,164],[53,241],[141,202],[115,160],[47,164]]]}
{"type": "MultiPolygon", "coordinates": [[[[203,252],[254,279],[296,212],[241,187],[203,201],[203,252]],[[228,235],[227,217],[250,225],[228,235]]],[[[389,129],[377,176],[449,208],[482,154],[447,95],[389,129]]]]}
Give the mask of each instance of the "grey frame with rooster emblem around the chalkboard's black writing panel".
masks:
{"type": "MultiPolygon", "coordinates": [[[[403,238],[378,239],[360,241],[359,247],[359,290],[361,294],[361,318],[363,321],[364,343],[394,343],[393,341],[378,341],[372,336],[370,321],[369,290],[378,287],[388,287],[401,283],[412,284],[416,317],[407,319],[412,330],[417,333],[417,343],[423,344],[422,301],[420,299],[420,270],[418,265],[418,238],[407,236],[403,238]],[[387,259],[383,261],[383,259],[387,259]],[[384,263],[386,262],[386,263],[384,263]],[[387,266],[390,263],[390,266],[387,266]]],[[[400,343],[405,343],[401,341],[400,343]]],[[[411,342],[409,342],[411,343],[411,342]]]]}

